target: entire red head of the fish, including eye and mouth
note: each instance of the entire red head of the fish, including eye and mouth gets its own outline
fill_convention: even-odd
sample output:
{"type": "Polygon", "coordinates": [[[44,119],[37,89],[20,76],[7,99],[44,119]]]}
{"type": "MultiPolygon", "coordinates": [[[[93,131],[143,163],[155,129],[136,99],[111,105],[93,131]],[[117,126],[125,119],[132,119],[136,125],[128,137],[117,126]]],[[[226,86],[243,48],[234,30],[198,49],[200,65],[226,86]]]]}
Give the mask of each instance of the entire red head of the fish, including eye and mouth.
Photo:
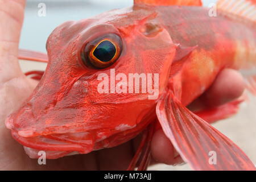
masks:
{"type": "Polygon", "coordinates": [[[46,47],[42,80],[6,119],[27,149],[86,154],[126,142],[156,118],[176,46],[151,8],[65,22],[46,47]]]}

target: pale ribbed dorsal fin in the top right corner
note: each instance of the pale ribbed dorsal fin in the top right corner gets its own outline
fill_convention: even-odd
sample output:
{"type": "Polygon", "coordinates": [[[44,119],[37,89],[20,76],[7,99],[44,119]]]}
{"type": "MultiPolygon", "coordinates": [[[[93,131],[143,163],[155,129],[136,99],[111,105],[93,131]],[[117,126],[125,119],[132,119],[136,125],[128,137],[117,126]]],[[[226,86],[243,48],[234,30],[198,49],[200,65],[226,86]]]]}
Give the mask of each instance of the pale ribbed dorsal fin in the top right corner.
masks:
{"type": "Polygon", "coordinates": [[[256,0],[218,0],[217,9],[240,19],[256,22],[256,0]]]}

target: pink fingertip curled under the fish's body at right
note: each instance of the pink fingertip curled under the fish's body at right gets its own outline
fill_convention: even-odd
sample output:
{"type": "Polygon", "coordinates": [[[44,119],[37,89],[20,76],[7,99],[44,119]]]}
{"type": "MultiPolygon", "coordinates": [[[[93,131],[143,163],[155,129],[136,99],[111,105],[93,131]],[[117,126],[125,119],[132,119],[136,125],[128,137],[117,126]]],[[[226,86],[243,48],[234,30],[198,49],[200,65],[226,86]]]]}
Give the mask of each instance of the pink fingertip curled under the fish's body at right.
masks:
{"type": "Polygon", "coordinates": [[[200,110],[220,106],[240,97],[244,90],[245,84],[241,73],[233,69],[224,69],[210,88],[188,107],[191,110],[200,110]]]}

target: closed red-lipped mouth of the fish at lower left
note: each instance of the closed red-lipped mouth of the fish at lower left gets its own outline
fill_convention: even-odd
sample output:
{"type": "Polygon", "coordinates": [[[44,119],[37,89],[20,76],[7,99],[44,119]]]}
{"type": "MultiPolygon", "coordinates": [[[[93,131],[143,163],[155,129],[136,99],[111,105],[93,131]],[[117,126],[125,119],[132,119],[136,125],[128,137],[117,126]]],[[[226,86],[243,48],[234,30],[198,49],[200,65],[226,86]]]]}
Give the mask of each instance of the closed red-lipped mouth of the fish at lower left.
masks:
{"type": "Polygon", "coordinates": [[[57,159],[67,155],[88,154],[94,148],[93,135],[89,131],[24,137],[15,129],[10,117],[6,119],[5,125],[32,159],[39,158],[40,151],[45,152],[47,159],[57,159]]]}

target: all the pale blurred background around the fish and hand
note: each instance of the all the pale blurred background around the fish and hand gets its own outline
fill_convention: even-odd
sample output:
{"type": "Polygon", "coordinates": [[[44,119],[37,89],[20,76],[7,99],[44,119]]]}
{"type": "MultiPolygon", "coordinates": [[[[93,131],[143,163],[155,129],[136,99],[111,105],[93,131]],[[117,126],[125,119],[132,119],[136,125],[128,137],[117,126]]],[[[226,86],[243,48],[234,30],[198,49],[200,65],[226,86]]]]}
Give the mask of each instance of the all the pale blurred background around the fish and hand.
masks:
{"type": "MultiPolygon", "coordinates": [[[[216,0],[203,0],[204,6],[216,0]]],[[[133,0],[27,0],[22,35],[19,47],[46,52],[46,41],[54,28],[67,20],[80,20],[112,9],[133,5],[133,0]],[[46,5],[46,16],[39,16],[39,3],[46,5]]],[[[46,64],[20,61],[24,72],[44,70],[46,64]]],[[[256,163],[256,99],[241,105],[241,111],[232,118],[214,124],[218,130],[232,139],[256,163]]],[[[187,164],[167,166],[158,164],[151,170],[190,170],[187,164]]]]}

